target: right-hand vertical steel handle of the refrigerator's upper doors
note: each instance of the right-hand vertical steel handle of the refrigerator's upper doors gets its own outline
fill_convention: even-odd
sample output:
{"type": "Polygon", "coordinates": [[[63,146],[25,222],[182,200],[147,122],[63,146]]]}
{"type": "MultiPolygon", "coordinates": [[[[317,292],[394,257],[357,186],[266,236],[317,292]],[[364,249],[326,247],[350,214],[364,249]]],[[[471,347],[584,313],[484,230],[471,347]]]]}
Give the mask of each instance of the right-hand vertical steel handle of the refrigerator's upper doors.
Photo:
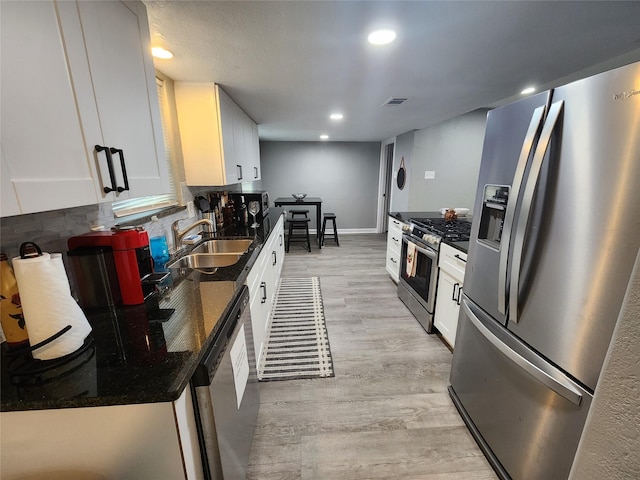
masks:
{"type": "Polygon", "coordinates": [[[524,194],[522,196],[522,207],[520,209],[520,216],[518,217],[518,225],[516,226],[516,236],[513,242],[513,259],[511,263],[511,284],[509,286],[509,321],[518,323],[518,291],[520,287],[520,267],[522,262],[522,251],[524,249],[525,231],[527,223],[529,222],[529,215],[531,214],[531,207],[533,204],[533,196],[536,192],[538,185],[538,178],[540,177],[540,170],[542,168],[542,162],[544,156],[547,153],[547,148],[551,142],[551,134],[556,127],[560,112],[564,106],[564,100],[553,103],[549,109],[549,115],[542,127],[542,133],[540,134],[540,141],[536,147],[536,152],[533,155],[533,161],[531,162],[531,169],[529,170],[529,177],[527,178],[527,184],[524,187],[524,194]]]}

